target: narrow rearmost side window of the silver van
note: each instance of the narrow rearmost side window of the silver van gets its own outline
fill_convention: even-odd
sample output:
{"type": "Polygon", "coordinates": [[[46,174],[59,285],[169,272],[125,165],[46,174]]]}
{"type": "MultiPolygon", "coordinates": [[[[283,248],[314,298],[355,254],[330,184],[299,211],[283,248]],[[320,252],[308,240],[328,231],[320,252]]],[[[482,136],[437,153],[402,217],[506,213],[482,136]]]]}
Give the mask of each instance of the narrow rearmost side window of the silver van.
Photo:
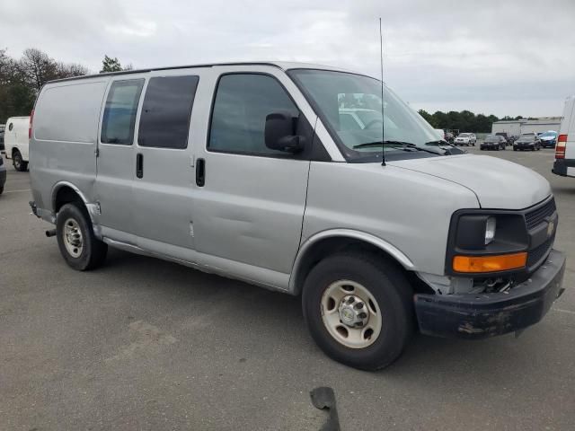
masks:
{"type": "Polygon", "coordinates": [[[143,79],[116,81],[111,84],[102,119],[102,143],[132,145],[137,103],[143,85],[143,79]]]}

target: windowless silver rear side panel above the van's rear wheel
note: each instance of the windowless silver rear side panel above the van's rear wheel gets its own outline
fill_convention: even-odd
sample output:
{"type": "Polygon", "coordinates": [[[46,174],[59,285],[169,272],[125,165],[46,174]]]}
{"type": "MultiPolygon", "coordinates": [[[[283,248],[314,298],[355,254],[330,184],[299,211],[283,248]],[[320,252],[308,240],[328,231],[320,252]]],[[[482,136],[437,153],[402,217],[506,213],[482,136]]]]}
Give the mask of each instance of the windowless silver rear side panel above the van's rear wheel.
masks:
{"type": "Polygon", "coordinates": [[[32,196],[53,211],[57,184],[68,182],[88,199],[96,175],[96,142],[109,78],[63,81],[44,86],[34,109],[30,142],[32,196]]]}

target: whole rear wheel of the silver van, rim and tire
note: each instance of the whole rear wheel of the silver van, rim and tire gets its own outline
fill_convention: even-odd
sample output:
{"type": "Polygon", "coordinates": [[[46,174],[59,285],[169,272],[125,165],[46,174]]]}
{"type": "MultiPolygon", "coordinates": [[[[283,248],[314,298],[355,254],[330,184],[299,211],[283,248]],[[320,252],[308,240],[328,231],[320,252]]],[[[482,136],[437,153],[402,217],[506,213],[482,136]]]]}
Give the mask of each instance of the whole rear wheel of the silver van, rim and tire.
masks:
{"type": "Polygon", "coordinates": [[[90,216],[78,204],[66,204],[57,213],[57,245],[66,263],[79,271],[102,265],[108,245],[93,234],[90,216]]]}

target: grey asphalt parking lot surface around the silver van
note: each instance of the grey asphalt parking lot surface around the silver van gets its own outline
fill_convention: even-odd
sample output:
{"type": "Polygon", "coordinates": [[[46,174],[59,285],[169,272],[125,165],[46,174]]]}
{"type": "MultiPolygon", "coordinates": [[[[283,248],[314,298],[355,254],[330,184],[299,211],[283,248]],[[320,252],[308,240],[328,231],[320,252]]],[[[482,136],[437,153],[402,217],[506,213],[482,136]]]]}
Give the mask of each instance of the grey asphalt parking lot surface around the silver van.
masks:
{"type": "Polygon", "coordinates": [[[114,251],[76,272],[31,216],[29,173],[0,196],[0,428],[319,429],[331,386],[341,429],[575,429],[575,180],[553,150],[470,152],[550,180],[568,290],[534,327],[482,341],[416,335],[366,373],[314,345],[299,298],[114,251]]]}

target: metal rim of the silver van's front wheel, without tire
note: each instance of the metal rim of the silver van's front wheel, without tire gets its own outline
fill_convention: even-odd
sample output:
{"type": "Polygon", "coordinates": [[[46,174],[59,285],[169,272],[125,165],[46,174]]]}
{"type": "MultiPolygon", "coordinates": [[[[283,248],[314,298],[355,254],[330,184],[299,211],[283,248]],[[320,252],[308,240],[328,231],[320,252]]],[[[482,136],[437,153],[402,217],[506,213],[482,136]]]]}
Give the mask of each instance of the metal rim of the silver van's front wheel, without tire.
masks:
{"type": "Polygon", "coordinates": [[[345,347],[371,346],[381,333],[383,316],[376,298],[355,281],[338,280],[327,286],[321,313],[325,329],[345,347]]]}

